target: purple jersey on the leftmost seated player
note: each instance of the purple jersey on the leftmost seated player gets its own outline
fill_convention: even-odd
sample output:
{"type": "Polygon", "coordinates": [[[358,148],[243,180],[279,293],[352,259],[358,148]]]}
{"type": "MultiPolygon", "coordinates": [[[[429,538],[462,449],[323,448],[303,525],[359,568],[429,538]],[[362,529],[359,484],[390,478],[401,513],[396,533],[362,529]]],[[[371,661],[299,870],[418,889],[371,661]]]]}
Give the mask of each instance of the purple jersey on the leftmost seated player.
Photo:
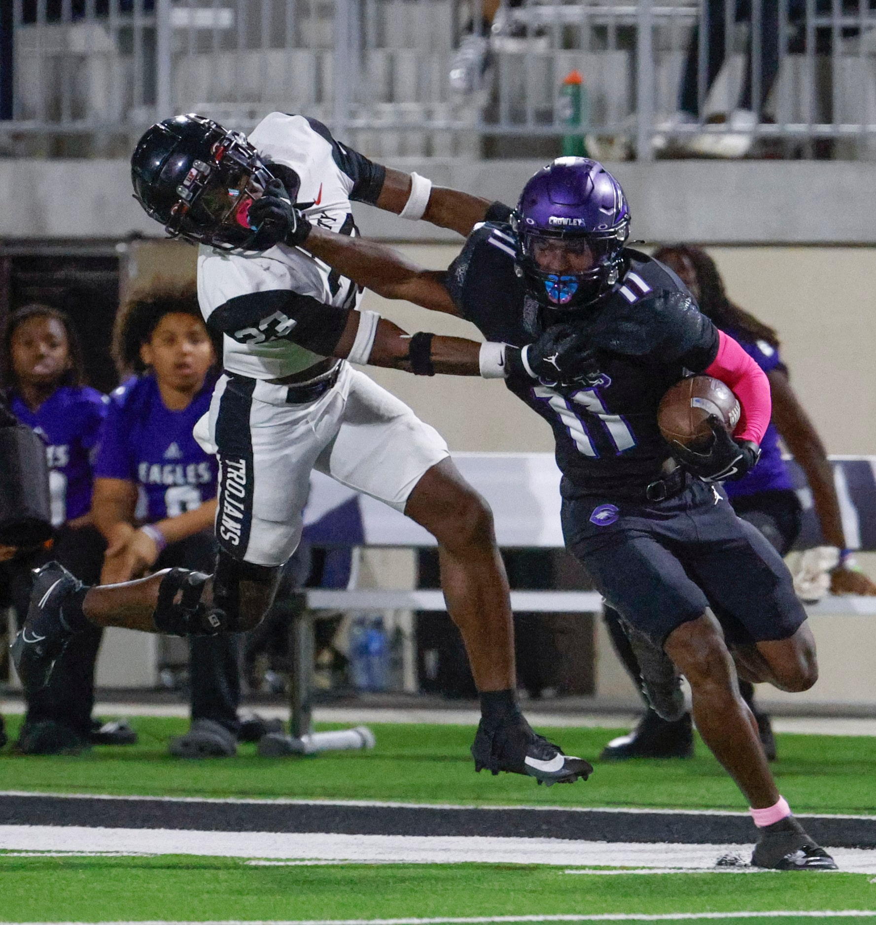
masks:
{"type": "Polygon", "coordinates": [[[106,418],[106,395],[88,386],[61,386],[32,412],[13,394],[12,413],[45,441],[52,525],[88,513],[92,506],[92,451],[106,418]]]}

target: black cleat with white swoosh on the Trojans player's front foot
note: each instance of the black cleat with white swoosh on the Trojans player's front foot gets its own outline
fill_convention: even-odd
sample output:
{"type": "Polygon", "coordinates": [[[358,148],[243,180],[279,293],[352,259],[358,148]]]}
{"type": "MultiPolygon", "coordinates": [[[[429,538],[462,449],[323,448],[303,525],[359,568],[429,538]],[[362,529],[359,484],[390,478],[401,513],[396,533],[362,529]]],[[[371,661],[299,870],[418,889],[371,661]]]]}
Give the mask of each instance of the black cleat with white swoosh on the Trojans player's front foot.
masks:
{"type": "Polygon", "coordinates": [[[471,757],[475,771],[526,774],[547,786],[574,783],[579,777],[586,781],[594,770],[589,761],[564,755],[562,748],[548,742],[544,735],[534,733],[520,714],[494,728],[487,727],[482,720],[471,746],[471,757]]]}

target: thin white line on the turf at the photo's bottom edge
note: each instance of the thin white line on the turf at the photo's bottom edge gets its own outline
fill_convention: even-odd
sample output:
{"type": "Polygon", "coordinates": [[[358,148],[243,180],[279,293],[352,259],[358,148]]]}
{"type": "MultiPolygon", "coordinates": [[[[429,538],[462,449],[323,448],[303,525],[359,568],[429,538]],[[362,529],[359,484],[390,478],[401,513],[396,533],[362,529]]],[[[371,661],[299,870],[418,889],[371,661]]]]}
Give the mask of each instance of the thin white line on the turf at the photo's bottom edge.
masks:
{"type": "MultiPolygon", "coordinates": [[[[470,916],[466,918],[440,916],[433,919],[214,919],[211,921],[112,921],[92,925],[486,925],[489,922],[678,922],[715,919],[874,919],[876,911],[840,909],[829,911],[770,912],[605,912],[596,915],[566,916],[470,916]]],[[[79,922],[18,922],[12,925],[80,925],[79,922]]]]}

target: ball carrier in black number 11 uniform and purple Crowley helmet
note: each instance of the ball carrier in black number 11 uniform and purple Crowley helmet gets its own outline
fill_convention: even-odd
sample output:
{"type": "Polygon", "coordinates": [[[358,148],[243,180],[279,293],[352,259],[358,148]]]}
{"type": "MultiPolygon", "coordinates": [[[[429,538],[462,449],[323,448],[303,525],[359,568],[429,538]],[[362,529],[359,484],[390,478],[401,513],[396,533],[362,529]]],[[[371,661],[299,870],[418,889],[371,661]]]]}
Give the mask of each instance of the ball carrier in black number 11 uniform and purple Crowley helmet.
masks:
{"type": "MultiPolygon", "coordinates": [[[[270,207],[281,240],[386,298],[479,327],[482,375],[505,378],[554,430],[567,547],[621,615],[652,705],[678,718],[680,673],[689,681],[697,728],[751,808],[752,863],[834,870],[779,794],[738,685],[742,676],[802,691],[818,677],[782,557],[719,487],[757,463],[769,381],[675,273],[626,247],[631,216],[617,180],[588,158],[557,158],[507,221],[474,229],[444,273],[270,207]],[[533,351],[533,339],[555,348],[533,351]],[[691,373],[720,378],[742,411],[732,434],[712,420],[702,451],[670,446],[657,425],[667,388],[691,373]]],[[[476,762],[484,745],[475,740],[476,762]]]]}

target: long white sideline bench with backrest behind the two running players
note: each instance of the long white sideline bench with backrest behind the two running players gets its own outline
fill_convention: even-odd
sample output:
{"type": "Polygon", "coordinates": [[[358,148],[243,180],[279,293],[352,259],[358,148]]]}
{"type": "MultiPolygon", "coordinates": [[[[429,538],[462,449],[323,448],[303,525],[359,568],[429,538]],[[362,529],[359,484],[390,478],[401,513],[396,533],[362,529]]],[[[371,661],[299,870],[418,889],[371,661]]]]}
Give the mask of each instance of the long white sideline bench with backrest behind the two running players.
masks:
{"type": "MultiPolygon", "coordinates": [[[[502,548],[562,549],[559,523],[560,475],[551,453],[454,453],[454,461],[493,509],[496,540],[502,548]]],[[[843,516],[846,546],[876,549],[876,457],[832,457],[843,516]]],[[[802,471],[790,462],[804,509],[803,529],[795,549],[823,543],[802,471]]],[[[418,524],[380,501],[358,495],[325,475],[311,478],[305,512],[305,537],[315,546],[433,547],[434,539],[418,524]]],[[[514,611],[599,613],[595,591],[512,591],[514,611]]],[[[307,610],[297,621],[291,679],[292,735],[308,737],[311,728],[313,625],[319,611],[444,611],[438,590],[384,588],[308,588],[307,610]]],[[[822,598],[807,607],[812,616],[876,616],[876,598],[822,598]]],[[[319,735],[316,737],[319,738],[319,735]]]]}

